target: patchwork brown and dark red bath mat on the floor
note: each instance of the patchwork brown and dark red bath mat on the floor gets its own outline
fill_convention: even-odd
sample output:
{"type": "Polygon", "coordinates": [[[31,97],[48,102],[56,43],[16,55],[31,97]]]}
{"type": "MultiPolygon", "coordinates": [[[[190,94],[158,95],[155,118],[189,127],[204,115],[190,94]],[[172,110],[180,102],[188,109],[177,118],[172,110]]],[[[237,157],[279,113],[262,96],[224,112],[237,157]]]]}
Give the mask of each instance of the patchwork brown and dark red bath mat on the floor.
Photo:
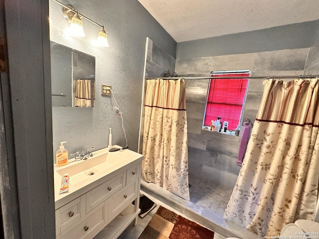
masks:
{"type": "Polygon", "coordinates": [[[139,239],[213,239],[214,232],[160,206],[139,239]]]}

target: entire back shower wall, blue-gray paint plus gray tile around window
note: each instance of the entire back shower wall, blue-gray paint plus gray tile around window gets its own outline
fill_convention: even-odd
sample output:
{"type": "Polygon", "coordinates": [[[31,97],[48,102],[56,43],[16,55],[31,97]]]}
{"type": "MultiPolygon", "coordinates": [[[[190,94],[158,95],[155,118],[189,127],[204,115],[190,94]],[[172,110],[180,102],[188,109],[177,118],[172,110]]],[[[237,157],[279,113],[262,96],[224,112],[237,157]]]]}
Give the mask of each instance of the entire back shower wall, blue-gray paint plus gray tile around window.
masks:
{"type": "MultiPolygon", "coordinates": [[[[319,74],[319,21],[177,43],[176,76],[251,70],[252,76],[319,74]]],[[[263,80],[251,79],[243,120],[254,122],[263,80]]],[[[202,129],[208,80],[186,81],[189,173],[233,187],[240,137],[202,129]]],[[[222,117],[222,116],[221,116],[222,117]]]]}

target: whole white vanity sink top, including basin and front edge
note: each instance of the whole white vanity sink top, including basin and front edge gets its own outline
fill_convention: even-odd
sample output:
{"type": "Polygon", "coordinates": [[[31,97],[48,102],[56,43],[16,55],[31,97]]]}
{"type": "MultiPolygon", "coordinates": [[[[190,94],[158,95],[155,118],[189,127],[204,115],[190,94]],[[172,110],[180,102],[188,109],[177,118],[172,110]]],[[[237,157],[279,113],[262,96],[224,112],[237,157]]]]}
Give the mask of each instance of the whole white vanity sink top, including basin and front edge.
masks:
{"type": "MultiPolygon", "coordinates": [[[[120,147],[114,145],[114,147],[120,147]]],[[[136,160],[142,160],[143,155],[130,149],[109,152],[102,148],[92,152],[93,156],[86,160],[69,162],[64,166],[54,165],[54,201],[55,207],[60,208],[66,203],[80,197],[101,183],[115,176],[122,167],[130,167],[136,160]],[[90,172],[94,173],[90,175],[90,172]],[[70,176],[69,190],[60,193],[62,176],[70,176]]]]}

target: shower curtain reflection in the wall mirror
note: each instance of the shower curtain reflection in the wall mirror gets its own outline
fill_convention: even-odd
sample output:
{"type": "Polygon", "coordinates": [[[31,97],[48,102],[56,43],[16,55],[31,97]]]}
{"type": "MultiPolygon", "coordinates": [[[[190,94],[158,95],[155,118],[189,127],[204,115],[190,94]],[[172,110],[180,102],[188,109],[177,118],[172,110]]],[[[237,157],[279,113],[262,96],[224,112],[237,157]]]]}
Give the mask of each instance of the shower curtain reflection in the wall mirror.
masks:
{"type": "Polygon", "coordinates": [[[91,107],[91,80],[75,80],[76,107],[91,107]]]}

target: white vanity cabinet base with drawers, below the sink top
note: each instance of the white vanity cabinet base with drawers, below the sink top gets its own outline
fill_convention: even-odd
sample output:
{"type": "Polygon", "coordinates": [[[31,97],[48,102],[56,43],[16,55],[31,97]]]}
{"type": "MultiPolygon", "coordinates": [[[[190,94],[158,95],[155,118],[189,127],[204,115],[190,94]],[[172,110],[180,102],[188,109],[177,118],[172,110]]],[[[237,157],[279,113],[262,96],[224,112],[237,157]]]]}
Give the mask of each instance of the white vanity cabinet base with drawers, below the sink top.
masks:
{"type": "Polygon", "coordinates": [[[76,198],[59,205],[56,238],[116,239],[130,223],[137,223],[141,167],[142,157],[86,185],[85,191],[77,190],[76,198]]]}

